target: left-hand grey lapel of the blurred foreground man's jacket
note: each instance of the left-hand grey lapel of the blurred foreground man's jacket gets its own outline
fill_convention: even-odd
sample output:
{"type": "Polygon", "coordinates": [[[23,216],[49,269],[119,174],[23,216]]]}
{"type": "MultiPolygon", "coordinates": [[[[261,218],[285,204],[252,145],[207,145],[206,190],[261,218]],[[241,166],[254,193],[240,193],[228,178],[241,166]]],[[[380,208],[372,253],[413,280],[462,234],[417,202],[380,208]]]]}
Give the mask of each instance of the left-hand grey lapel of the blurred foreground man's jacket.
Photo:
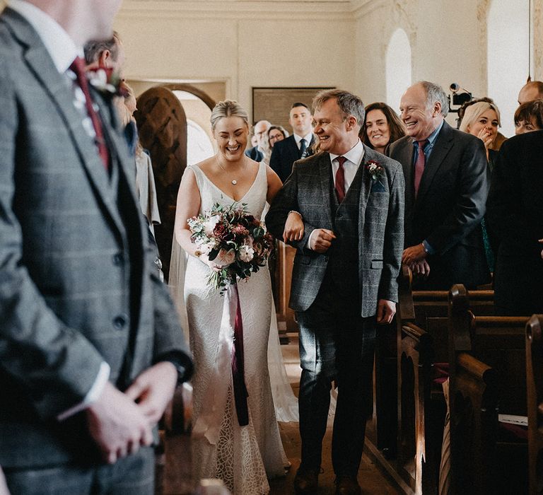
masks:
{"type": "Polygon", "coordinates": [[[59,74],[40,38],[21,16],[13,11],[6,11],[4,21],[14,27],[13,35],[17,33],[18,40],[28,46],[24,57],[30,71],[33,72],[37,81],[54,102],[59,114],[62,115],[89,180],[98,191],[98,197],[103,202],[112,221],[119,231],[122,231],[122,221],[112,199],[107,173],[95,146],[83,129],[83,119],[74,107],[71,91],[69,91],[69,81],[64,75],[59,74]]]}

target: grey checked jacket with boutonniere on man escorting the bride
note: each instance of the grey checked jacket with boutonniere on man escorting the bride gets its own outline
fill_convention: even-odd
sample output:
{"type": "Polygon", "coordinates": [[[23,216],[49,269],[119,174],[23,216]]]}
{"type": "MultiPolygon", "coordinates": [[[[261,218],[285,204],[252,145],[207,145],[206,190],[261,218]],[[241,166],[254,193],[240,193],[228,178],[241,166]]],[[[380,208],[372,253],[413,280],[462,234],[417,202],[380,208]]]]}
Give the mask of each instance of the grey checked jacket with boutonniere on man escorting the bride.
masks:
{"type": "MultiPolygon", "coordinates": [[[[378,299],[397,301],[397,275],[404,243],[404,177],[394,160],[364,146],[361,163],[362,185],[358,209],[358,282],[361,316],[375,314],[378,299]],[[366,169],[368,161],[383,166],[382,187],[374,187],[366,169]]],[[[329,153],[296,161],[284,186],[276,195],[266,216],[271,233],[281,238],[288,211],[303,216],[303,239],[292,243],[298,248],[294,258],[291,301],[293,310],[305,311],[315,301],[324,279],[329,255],[306,248],[315,228],[332,226],[330,194],[333,190],[329,153]]],[[[338,294],[338,297],[341,297],[338,294]]]]}

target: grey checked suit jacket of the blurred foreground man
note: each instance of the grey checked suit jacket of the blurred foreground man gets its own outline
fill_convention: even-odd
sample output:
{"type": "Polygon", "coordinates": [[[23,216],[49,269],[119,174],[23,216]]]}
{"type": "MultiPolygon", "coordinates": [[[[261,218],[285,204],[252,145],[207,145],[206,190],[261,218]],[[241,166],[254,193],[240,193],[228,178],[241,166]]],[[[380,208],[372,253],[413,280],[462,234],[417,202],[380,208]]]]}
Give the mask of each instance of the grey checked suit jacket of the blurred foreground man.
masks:
{"type": "MultiPolygon", "coordinates": [[[[153,362],[187,356],[135,196],[110,101],[97,95],[112,183],[66,77],[31,26],[0,16],[0,465],[91,455],[83,400],[100,363],[124,388],[153,362]]],[[[88,459],[87,459],[88,460],[88,459]]]]}

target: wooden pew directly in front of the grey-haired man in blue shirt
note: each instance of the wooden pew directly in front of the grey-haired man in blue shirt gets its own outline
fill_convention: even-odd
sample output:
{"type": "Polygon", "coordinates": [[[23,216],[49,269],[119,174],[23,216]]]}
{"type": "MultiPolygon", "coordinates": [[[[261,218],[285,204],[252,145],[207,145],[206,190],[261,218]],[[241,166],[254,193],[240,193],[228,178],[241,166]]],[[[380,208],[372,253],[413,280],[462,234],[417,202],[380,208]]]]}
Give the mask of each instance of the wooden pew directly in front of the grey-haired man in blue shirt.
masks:
{"type": "MultiPolygon", "coordinates": [[[[494,291],[471,291],[473,310],[494,313],[494,291]]],[[[397,471],[415,493],[438,487],[446,404],[436,363],[448,363],[448,291],[412,291],[402,267],[397,305],[397,471]]]]}

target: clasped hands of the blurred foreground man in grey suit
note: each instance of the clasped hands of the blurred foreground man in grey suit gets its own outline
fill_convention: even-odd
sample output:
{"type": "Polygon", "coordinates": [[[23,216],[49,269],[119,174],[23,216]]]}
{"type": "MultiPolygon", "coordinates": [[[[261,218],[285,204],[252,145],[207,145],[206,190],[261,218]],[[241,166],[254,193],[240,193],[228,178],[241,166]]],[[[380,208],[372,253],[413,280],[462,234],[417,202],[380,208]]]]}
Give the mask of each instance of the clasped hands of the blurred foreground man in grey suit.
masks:
{"type": "Polygon", "coordinates": [[[88,409],[87,425],[106,462],[113,464],[140,446],[153,443],[153,426],[162,417],[177,385],[169,361],[142,372],[123,393],[110,382],[88,409]]]}

